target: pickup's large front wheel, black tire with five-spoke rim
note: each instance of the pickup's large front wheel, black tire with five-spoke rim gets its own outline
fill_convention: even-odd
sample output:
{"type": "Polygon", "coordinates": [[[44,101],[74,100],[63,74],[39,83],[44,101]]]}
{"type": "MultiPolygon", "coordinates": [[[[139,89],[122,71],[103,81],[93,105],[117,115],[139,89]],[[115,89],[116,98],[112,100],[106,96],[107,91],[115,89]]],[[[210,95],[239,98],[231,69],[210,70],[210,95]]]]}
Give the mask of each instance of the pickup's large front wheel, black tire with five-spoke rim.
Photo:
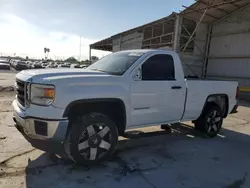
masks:
{"type": "Polygon", "coordinates": [[[65,151],[77,164],[94,165],[113,154],[117,141],[115,123],[104,114],[90,113],[70,120],[65,151]]]}

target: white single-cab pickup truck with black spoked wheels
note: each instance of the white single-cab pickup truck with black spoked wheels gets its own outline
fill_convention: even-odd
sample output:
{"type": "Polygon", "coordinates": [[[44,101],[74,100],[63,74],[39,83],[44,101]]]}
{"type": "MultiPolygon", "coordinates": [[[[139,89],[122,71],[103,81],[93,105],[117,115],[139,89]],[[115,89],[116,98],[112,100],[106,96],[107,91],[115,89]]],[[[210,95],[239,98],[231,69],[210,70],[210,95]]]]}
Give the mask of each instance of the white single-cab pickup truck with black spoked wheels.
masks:
{"type": "Polygon", "coordinates": [[[237,88],[185,79],[173,51],[121,51],[87,69],[18,73],[13,119],[34,147],[89,165],[110,156],[129,128],[191,120],[216,136],[237,107],[237,88]]]}

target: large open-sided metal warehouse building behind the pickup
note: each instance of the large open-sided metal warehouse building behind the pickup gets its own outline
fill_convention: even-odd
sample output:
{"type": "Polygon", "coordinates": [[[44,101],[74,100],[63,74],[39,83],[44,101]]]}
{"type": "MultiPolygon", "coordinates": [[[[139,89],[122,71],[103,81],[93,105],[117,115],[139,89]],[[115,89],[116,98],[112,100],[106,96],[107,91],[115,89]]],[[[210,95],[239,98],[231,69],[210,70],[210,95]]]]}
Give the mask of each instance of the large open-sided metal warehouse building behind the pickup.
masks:
{"type": "Polygon", "coordinates": [[[90,56],[91,49],[175,50],[186,76],[237,80],[250,99],[250,0],[197,0],[185,8],[91,44],[90,56]]]}

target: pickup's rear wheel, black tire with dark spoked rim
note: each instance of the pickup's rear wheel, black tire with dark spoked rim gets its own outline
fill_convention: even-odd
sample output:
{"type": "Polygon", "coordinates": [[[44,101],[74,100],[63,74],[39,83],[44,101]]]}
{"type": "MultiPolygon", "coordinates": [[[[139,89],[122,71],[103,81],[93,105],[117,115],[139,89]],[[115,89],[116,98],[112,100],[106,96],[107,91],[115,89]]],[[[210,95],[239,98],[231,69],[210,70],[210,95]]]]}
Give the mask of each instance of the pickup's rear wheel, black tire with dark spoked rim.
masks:
{"type": "Polygon", "coordinates": [[[223,114],[216,104],[208,103],[202,115],[194,122],[195,129],[205,137],[213,138],[221,130],[223,114]]]}

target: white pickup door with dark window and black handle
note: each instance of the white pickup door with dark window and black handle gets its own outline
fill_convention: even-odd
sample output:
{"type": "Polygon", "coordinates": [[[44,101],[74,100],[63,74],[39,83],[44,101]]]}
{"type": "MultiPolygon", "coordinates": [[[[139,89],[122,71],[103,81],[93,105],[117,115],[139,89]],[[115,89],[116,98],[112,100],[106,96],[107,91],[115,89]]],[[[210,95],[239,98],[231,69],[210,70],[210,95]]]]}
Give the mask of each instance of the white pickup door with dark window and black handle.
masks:
{"type": "Polygon", "coordinates": [[[184,78],[176,80],[176,71],[169,54],[155,54],[142,63],[141,79],[131,83],[132,125],[180,120],[186,87],[184,78]]]}

